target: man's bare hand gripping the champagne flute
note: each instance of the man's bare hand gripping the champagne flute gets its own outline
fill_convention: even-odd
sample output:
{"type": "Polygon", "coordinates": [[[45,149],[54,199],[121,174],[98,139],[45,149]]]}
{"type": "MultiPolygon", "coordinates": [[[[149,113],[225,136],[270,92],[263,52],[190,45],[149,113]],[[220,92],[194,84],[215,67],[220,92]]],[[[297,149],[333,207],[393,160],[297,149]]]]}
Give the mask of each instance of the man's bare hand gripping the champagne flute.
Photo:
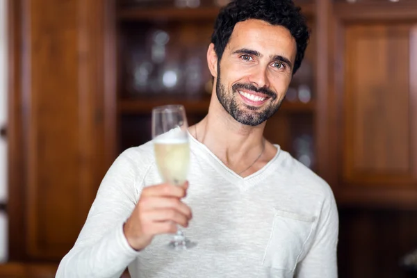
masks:
{"type": "Polygon", "coordinates": [[[145,187],[138,204],[123,227],[124,236],[134,250],[142,250],[157,234],[174,234],[177,224],[188,227],[191,209],[181,202],[188,182],[182,186],[162,183],[145,187]]]}

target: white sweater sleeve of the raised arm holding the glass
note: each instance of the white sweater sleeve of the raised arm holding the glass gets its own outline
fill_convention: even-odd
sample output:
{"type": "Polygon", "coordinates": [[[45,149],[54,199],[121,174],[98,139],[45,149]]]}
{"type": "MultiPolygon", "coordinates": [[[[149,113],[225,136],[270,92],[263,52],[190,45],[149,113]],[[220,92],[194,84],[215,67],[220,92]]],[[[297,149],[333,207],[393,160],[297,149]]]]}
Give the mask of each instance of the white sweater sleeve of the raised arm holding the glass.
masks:
{"type": "Polygon", "coordinates": [[[123,233],[139,195],[135,183],[140,172],[129,152],[133,151],[121,154],[106,173],[79,238],[60,262],[56,277],[120,277],[136,258],[138,252],[123,233]]]}

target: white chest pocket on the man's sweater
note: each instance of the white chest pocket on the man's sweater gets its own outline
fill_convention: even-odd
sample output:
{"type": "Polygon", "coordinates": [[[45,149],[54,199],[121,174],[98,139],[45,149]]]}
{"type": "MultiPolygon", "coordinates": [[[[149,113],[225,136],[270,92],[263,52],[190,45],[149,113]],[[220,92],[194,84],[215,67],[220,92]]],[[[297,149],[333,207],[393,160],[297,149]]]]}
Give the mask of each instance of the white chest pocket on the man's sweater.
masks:
{"type": "Polygon", "coordinates": [[[280,270],[295,270],[313,229],[314,216],[275,210],[272,234],[265,250],[263,265],[280,270]]]}

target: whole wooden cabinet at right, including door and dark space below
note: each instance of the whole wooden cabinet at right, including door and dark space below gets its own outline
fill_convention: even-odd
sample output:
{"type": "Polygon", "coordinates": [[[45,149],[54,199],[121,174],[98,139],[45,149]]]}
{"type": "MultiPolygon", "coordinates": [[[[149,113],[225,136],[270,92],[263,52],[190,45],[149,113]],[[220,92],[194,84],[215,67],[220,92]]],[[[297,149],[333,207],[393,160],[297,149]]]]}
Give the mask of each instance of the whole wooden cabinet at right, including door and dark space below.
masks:
{"type": "Polygon", "coordinates": [[[402,256],[417,247],[417,2],[331,10],[318,140],[338,203],[339,277],[405,278],[402,256]]]}

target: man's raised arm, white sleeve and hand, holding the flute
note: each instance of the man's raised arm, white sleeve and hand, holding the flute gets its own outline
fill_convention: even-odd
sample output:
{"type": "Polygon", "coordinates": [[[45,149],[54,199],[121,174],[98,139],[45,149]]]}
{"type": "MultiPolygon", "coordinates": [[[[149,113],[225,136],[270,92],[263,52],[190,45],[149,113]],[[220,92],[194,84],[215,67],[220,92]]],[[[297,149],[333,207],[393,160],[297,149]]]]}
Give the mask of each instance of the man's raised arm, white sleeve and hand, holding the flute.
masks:
{"type": "Polygon", "coordinates": [[[188,225],[191,211],[181,202],[188,183],[143,188],[149,166],[134,163],[128,152],[117,158],[101,182],[81,234],[56,277],[120,277],[136,259],[136,250],[147,247],[155,235],[176,232],[176,224],[188,225]]]}

